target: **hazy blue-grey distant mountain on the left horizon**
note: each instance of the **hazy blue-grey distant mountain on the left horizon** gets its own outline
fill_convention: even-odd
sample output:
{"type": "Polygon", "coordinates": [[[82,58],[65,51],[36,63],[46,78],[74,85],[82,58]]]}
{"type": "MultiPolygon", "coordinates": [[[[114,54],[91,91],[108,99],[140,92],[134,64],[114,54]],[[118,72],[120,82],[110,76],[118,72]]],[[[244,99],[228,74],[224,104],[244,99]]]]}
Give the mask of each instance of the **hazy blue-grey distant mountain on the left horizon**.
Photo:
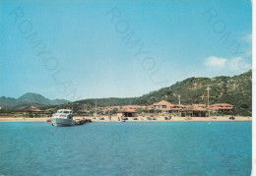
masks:
{"type": "Polygon", "coordinates": [[[50,100],[40,94],[28,92],[22,96],[20,96],[18,99],[12,98],[12,97],[0,97],[0,107],[4,108],[20,108],[28,105],[33,105],[36,107],[45,107],[45,106],[51,106],[51,105],[59,105],[70,102],[65,99],[53,99],[50,100]]]}

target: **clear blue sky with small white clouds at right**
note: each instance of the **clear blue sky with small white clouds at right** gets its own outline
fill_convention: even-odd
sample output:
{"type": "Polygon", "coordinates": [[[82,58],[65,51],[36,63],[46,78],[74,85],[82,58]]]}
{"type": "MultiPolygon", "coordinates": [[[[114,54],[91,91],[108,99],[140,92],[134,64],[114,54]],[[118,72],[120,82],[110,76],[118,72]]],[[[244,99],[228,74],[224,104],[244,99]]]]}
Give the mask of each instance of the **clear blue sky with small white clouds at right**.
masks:
{"type": "Polygon", "coordinates": [[[249,0],[0,1],[0,96],[134,97],[251,67],[249,0]]]}

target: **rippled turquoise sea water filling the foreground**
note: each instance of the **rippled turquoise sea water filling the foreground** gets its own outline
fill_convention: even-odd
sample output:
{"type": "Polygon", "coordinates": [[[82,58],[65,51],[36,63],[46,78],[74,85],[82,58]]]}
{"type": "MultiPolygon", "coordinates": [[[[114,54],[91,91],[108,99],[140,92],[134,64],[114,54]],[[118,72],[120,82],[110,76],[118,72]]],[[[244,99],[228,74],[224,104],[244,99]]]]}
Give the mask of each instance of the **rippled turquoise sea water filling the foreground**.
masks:
{"type": "Polygon", "coordinates": [[[0,175],[250,175],[251,122],[0,123],[0,175]]]}

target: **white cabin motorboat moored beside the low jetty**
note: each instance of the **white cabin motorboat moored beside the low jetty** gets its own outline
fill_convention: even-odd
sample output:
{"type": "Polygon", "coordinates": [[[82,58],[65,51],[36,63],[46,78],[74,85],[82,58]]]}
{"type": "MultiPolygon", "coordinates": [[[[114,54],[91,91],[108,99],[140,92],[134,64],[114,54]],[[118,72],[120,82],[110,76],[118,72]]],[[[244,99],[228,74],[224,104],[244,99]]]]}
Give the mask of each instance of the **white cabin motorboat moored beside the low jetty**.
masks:
{"type": "Polygon", "coordinates": [[[59,109],[50,118],[51,125],[57,127],[68,127],[76,124],[73,119],[72,110],[70,109],[59,109]]]}

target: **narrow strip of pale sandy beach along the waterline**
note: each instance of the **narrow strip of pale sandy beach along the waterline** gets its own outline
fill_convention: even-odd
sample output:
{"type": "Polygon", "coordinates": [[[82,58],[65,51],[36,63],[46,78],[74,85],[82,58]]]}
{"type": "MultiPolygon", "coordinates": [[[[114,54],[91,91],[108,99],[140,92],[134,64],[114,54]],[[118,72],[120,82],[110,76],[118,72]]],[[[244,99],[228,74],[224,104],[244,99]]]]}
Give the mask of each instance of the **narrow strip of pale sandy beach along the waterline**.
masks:
{"type": "MultiPolygon", "coordinates": [[[[104,118],[104,120],[99,120],[98,117],[74,117],[75,120],[80,119],[91,119],[93,122],[117,122],[118,118],[116,116],[111,117],[109,120],[108,116],[100,116],[104,118]]],[[[133,118],[128,118],[127,122],[190,122],[190,121],[251,121],[251,117],[241,117],[241,116],[234,116],[235,120],[229,120],[229,116],[216,116],[213,117],[192,117],[190,120],[187,120],[185,117],[172,117],[171,120],[165,120],[164,117],[156,117],[156,120],[147,120],[146,117],[137,117],[138,120],[133,120],[133,118]]],[[[42,117],[42,118],[10,118],[10,117],[1,117],[0,122],[46,122],[49,118],[42,117]]]]}

